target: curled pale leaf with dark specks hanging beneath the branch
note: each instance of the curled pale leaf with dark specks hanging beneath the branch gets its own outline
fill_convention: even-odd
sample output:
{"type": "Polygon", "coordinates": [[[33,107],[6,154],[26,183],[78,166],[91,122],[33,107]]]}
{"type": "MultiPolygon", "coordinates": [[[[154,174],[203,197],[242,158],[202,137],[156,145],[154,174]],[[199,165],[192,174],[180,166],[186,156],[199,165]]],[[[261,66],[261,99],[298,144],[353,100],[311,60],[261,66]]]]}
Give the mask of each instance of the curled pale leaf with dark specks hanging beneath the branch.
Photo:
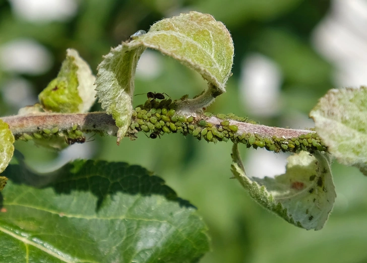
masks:
{"type": "Polygon", "coordinates": [[[288,157],[285,174],[263,179],[246,175],[237,144],[232,159],[234,177],[264,208],[307,230],[324,227],[336,197],[327,156],[302,151],[288,157]]]}

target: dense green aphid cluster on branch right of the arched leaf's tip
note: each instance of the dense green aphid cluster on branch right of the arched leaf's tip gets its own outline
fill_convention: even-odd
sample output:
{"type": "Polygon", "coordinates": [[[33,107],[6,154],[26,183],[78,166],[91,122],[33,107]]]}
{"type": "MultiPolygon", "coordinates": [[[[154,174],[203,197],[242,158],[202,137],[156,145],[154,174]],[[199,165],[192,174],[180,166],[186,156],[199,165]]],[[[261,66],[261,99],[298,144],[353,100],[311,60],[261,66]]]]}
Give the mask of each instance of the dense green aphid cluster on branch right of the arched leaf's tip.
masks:
{"type": "Polygon", "coordinates": [[[207,142],[227,142],[231,140],[234,143],[246,144],[248,148],[266,148],[275,152],[298,152],[300,150],[325,151],[323,143],[316,133],[301,135],[298,138],[262,138],[258,134],[238,134],[238,126],[230,125],[230,120],[241,122],[250,122],[258,124],[247,118],[237,117],[233,113],[217,114],[215,117],[220,119],[220,124],[213,125],[207,120],[214,116],[205,112],[202,115],[183,116],[175,111],[175,103],[171,99],[165,99],[161,93],[152,93],[147,95],[148,100],[144,105],[135,108],[132,115],[132,122],[128,133],[132,138],[138,131],[143,131],[149,135],[149,138],[156,139],[163,134],[181,133],[183,135],[192,135],[197,139],[204,139],[207,142]],[[157,96],[158,95],[158,96],[157,96]],[[161,95],[161,96],[160,96],[161,95]],[[161,101],[157,101],[161,100],[161,101]]]}

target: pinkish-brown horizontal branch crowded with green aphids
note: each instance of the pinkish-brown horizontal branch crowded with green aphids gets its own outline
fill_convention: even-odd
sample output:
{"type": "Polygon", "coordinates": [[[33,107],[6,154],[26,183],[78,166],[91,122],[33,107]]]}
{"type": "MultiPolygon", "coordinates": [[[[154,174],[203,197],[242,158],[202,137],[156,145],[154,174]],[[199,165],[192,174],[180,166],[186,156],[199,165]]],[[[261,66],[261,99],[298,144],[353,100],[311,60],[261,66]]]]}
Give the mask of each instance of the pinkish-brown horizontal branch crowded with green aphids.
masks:
{"type": "MultiPolygon", "coordinates": [[[[184,135],[191,134],[199,140],[205,139],[208,142],[231,140],[234,143],[246,144],[248,147],[265,147],[267,150],[275,152],[327,150],[313,130],[269,127],[247,122],[244,118],[233,116],[233,114],[215,116],[210,113],[196,113],[195,117],[187,118],[176,115],[174,111],[169,110],[163,118],[164,114],[160,109],[158,109],[160,113],[154,109],[153,114],[152,110],[136,108],[127,136],[135,139],[135,135],[139,131],[149,135],[163,135],[178,131],[184,135]],[[152,116],[155,116],[154,119],[152,116]],[[161,116],[161,119],[157,116],[161,116]]],[[[24,134],[32,136],[55,127],[57,127],[56,133],[64,131],[64,134],[77,129],[83,133],[95,132],[116,136],[118,130],[112,117],[105,112],[15,115],[1,119],[9,124],[16,139],[23,140],[24,134]]],[[[156,136],[150,138],[154,139],[156,136]]]]}

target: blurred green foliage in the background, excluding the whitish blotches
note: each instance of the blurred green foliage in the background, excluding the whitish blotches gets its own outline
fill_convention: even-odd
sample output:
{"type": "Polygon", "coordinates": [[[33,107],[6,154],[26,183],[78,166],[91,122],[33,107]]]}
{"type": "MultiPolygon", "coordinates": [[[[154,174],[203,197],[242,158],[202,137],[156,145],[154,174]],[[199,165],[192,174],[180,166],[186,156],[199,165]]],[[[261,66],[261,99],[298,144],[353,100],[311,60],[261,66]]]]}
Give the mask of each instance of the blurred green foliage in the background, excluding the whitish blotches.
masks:
{"type": "MultiPolygon", "coordinates": [[[[75,48],[90,63],[92,70],[107,54],[139,29],[182,10],[210,13],[222,21],[232,34],[235,57],[233,76],[227,93],[209,108],[214,113],[245,112],[238,96],[241,61],[251,52],[273,59],[283,74],[279,116],[262,119],[264,124],[281,125],[286,112],[305,115],[318,99],[332,88],[332,65],[312,47],[310,36],[324,18],[329,1],[279,0],[141,0],[80,1],[77,15],[68,22],[30,23],[11,12],[8,2],[0,1],[0,45],[18,38],[32,38],[52,52],[52,69],[42,76],[22,76],[29,80],[35,94],[55,78],[67,48],[75,48]],[[239,4],[240,3],[240,4],[239,4]]],[[[155,79],[136,79],[136,92],[166,92],[178,98],[181,90],[193,96],[206,87],[201,78],[168,57],[159,57],[163,72],[155,79]]],[[[138,66],[139,67],[139,66],[138,66]]],[[[11,73],[0,69],[0,90],[11,73]]],[[[2,99],[0,113],[14,114],[2,99]]],[[[145,100],[135,97],[135,104],[145,100]]],[[[95,105],[94,110],[99,106],[95,105]]],[[[301,127],[302,128],[302,127],[301,127]]],[[[201,260],[212,262],[364,262],[367,251],[366,179],[356,168],[333,165],[337,198],[332,216],[321,231],[295,228],[266,212],[250,199],[234,180],[229,180],[230,143],[217,145],[197,142],[191,137],[168,135],[161,140],[145,136],[132,142],[115,138],[96,138],[95,159],[139,164],[164,178],[179,196],[198,207],[209,227],[212,252],[201,260]],[[342,249],[340,249],[342,248],[342,249]]],[[[57,154],[17,143],[26,161],[36,166],[57,154]]],[[[249,150],[254,151],[254,150],[249,150]]],[[[244,155],[248,151],[241,150],[244,155]]],[[[267,164],[264,164],[267,165],[267,164]]]]}

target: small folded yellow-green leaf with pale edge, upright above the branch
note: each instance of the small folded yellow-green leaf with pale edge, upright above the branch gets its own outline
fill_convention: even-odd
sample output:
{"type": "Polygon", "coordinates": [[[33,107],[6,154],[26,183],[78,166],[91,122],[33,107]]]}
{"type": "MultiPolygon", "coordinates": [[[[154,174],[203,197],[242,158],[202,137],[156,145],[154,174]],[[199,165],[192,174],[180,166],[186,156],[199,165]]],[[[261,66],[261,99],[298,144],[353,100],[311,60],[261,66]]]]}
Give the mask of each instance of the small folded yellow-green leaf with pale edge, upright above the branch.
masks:
{"type": "Polygon", "coordinates": [[[67,56],[57,77],[38,95],[45,110],[62,113],[87,112],[95,101],[95,77],[86,61],[74,49],[67,56]]]}

